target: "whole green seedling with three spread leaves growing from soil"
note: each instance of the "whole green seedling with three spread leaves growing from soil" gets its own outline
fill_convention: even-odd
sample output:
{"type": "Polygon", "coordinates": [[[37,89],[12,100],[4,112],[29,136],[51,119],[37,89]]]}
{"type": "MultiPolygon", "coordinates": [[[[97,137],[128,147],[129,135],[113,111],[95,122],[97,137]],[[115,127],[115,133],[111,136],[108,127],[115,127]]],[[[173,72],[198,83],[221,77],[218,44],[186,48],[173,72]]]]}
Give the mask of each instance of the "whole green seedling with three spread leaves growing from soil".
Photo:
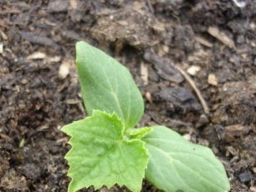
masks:
{"type": "Polygon", "coordinates": [[[114,184],[141,190],[146,178],[166,192],[224,192],[223,164],[211,149],[164,126],[135,129],[144,103],[131,73],[88,43],[76,44],[79,83],[88,117],[65,125],[72,148],[69,192],[114,184]]]}

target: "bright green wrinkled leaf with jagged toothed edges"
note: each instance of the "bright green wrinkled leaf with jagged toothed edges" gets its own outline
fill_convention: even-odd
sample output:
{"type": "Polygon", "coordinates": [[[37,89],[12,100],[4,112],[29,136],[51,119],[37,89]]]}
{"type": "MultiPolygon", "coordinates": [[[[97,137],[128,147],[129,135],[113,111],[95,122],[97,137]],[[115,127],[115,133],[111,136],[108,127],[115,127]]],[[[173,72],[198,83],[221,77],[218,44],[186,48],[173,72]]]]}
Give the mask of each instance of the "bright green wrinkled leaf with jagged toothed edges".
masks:
{"type": "Polygon", "coordinates": [[[94,185],[125,185],[140,191],[149,156],[145,143],[124,139],[124,125],[116,114],[94,111],[93,116],[62,128],[72,148],[69,161],[69,192],[94,185]]]}

